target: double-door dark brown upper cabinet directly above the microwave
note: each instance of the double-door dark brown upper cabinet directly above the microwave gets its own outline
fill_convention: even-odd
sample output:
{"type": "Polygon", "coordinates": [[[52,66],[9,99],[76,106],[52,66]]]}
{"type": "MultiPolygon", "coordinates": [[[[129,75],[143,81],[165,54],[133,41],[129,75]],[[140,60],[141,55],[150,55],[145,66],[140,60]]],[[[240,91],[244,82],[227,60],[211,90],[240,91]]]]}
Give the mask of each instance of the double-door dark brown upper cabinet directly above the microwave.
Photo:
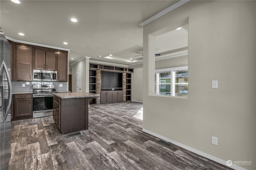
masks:
{"type": "Polygon", "coordinates": [[[55,71],[55,51],[35,50],[35,69],[55,71]]]}

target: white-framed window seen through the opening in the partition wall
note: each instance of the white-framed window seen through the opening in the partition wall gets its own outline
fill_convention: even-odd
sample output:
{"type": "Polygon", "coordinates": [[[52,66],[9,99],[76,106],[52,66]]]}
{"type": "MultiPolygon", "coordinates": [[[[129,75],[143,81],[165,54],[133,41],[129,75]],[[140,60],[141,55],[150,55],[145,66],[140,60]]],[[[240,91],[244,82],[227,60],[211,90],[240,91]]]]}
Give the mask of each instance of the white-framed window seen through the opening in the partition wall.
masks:
{"type": "Polygon", "coordinates": [[[188,97],[188,66],[156,70],[155,73],[157,95],[188,97]]]}

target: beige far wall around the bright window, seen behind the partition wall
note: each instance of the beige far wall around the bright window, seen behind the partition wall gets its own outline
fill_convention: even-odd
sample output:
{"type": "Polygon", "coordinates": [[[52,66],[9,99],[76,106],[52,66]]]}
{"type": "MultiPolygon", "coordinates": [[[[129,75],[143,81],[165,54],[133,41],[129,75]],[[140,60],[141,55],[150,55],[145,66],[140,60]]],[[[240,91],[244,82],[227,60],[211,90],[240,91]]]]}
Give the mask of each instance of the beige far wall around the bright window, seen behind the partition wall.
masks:
{"type": "MultiPolygon", "coordinates": [[[[188,66],[188,56],[174,57],[156,61],[156,69],[188,66]]],[[[129,66],[132,73],[132,101],[143,102],[143,64],[129,66]]]]}

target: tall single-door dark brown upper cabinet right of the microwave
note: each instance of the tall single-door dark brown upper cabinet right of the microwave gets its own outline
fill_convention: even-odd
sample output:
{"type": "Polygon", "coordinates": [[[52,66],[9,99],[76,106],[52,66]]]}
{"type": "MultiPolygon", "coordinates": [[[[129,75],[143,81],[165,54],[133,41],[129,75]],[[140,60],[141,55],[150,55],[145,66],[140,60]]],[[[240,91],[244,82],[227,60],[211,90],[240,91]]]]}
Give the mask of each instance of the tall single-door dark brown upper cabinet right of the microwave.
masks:
{"type": "Polygon", "coordinates": [[[58,82],[67,82],[68,80],[68,55],[66,52],[58,51],[58,82]]]}

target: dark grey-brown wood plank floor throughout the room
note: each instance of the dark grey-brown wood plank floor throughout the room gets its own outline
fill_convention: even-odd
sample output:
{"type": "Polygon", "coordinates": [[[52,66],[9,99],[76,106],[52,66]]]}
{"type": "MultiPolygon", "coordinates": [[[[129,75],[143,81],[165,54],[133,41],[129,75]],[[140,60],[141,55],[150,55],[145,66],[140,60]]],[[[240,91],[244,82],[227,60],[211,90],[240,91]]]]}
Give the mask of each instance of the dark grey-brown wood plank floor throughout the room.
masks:
{"type": "Polygon", "coordinates": [[[89,129],[73,136],[52,117],[12,121],[9,169],[230,170],[142,132],[141,113],[136,102],[91,105],[89,129]]]}

